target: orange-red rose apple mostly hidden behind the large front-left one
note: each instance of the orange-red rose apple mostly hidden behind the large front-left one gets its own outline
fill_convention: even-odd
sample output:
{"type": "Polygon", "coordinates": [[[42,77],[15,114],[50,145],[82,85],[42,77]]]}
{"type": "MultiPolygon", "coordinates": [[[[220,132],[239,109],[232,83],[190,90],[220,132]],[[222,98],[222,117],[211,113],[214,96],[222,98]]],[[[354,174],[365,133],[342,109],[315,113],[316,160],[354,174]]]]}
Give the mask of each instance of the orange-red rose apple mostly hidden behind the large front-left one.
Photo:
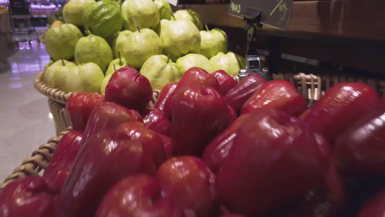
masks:
{"type": "Polygon", "coordinates": [[[129,135],[132,141],[142,142],[143,146],[150,149],[156,168],[166,161],[167,157],[162,137],[147,129],[142,122],[124,123],[117,127],[116,131],[120,134],[129,135]]]}

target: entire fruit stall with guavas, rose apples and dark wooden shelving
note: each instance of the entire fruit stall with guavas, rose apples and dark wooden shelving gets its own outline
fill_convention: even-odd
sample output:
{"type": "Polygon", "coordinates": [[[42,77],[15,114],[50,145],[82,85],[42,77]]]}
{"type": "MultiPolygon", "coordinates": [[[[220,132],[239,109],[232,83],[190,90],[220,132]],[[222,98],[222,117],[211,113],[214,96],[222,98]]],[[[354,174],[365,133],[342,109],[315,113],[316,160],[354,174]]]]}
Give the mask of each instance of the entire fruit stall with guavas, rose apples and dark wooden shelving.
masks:
{"type": "Polygon", "coordinates": [[[372,14],[352,28],[379,1],[295,1],[288,31],[257,31],[271,79],[238,74],[228,4],[81,2],[34,81],[58,134],[5,178],[0,213],[383,216],[385,37],[372,14]]]}

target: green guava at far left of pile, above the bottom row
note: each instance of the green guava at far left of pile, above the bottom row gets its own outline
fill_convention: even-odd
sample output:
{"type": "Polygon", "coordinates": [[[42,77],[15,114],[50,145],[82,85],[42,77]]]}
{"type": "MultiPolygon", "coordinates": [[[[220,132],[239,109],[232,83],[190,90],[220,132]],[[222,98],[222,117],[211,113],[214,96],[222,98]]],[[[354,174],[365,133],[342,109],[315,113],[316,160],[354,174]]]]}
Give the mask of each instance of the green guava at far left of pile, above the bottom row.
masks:
{"type": "Polygon", "coordinates": [[[73,24],[50,28],[45,33],[45,49],[54,61],[72,59],[75,46],[82,36],[82,32],[73,24]]]}

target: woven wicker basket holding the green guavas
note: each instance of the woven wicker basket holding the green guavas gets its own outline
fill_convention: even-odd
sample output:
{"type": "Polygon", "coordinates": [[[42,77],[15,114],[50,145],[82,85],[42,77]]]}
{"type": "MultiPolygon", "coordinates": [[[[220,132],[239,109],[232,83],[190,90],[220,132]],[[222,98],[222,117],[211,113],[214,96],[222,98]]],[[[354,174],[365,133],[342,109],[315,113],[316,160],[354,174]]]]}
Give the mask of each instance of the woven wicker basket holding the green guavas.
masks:
{"type": "MultiPolygon", "coordinates": [[[[60,132],[70,126],[70,121],[65,110],[65,103],[72,92],[64,92],[46,85],[43,75],[44,73],[42,72],[35,77],[35,80],[33,80],[33,86],[35,86],[40,93],[48,97],[50,112],[52,113],[55,122],[55,131],[56,134],[59,135],[60,132]]],[[[159,90],[154,90],[150,106],[154,106],[154,103],[159,96],[159,92],[159,90]]]]}

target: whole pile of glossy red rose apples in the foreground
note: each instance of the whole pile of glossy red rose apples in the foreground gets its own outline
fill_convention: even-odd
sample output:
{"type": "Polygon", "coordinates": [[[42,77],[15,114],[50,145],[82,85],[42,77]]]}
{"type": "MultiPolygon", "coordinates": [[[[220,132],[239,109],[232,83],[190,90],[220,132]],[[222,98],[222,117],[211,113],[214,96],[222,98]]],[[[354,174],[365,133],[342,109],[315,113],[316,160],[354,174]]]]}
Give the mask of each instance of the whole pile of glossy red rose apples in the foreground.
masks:
{"type": "Polygon", "coordinates": [[[153,109],[151,97],[132,67],[105,96],[71,95],[72,131],[42,177],[3,189],[1,216],[383,216],[385,103],[372,87],[335,85],[308,109],[288,81],[190,68],[153,109]]]}

